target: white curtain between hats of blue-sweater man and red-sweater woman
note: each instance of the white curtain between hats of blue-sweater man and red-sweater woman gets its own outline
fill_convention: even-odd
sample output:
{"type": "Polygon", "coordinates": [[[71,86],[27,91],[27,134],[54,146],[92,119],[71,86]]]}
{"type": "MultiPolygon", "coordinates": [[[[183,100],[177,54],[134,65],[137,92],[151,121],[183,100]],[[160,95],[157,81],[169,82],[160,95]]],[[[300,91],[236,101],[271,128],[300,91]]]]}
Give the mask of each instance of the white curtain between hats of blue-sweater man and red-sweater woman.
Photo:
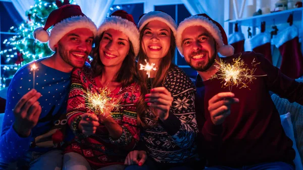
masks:
{"type": "Polygon", "coordinates": [[[90,18],[98,27],[106,18],[115,0],[76,0],[75,2],[80,6],[83,14],[90,18]]]}

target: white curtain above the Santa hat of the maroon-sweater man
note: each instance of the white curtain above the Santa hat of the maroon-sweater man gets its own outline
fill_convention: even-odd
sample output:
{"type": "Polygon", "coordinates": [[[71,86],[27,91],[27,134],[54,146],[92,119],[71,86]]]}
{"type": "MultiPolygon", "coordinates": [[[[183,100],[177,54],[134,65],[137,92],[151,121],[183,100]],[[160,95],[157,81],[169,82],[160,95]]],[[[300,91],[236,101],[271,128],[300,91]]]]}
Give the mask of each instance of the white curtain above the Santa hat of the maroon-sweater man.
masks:
{"type": "Polygon", "coordinates": [[[224,1],[222,0],[182,0],[191,15],[206,13],[213,20],[224,25],[224,1]]]}

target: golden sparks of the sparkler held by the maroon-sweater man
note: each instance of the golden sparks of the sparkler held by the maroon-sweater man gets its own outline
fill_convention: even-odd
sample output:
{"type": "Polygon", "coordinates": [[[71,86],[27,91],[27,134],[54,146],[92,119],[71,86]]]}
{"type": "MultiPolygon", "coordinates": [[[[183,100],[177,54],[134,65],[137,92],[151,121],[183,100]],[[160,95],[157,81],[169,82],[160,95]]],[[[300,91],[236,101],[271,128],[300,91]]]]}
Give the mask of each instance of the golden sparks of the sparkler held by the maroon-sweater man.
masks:
{"type": "MultiPolygon", "coordinates": [[[[255,76],[254,73],[256,68],[249,69],[243,60],[233,59],[233,63],[225,63],[220,59],[220,62],[216,61],[217,65],[215,67],[219,70],[213,78],[221,79],[223,83],[222,87],[228,87],[231,91],[233,86],[240,86],[240,88],[248,88],[249,83],[257,79],[256,77],[267,76],[255,76]]],[[[255,63],[255,59],[252,61],[252,67],[256,67],[260,63],[255,63]]],[[[249,89],[249,88],[248,88],[249,89]]],[[[250,89],[249,89],[250,90],[250,89]]]]}

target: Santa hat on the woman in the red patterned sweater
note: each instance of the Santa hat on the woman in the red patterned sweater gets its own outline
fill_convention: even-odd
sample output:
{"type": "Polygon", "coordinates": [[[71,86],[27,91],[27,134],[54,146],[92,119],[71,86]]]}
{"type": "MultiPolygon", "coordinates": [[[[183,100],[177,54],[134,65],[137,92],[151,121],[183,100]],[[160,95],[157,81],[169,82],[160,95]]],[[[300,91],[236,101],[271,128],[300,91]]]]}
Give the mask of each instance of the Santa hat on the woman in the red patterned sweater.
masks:
{"type": "Polygon", "coordinates": [[[134,48],[135,55],[139,53],[139,31],[133,16],[123,10],[115,11],[98,28],[98,36],[108,29],[115,29],[128,36],[134,48]]]}

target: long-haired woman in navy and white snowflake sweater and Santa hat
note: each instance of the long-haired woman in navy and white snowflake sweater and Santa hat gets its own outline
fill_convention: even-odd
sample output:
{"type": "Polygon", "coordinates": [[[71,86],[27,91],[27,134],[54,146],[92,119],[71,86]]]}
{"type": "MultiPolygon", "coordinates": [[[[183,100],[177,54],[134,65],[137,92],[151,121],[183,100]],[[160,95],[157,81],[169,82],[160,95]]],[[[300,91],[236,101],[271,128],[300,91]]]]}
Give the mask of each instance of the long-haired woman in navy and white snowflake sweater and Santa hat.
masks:
{"type": "Polygon", "coordinates": [[[154,63],[157,71],[151,71],[150,78],[146,72],[138,71],[141,96],[137,114],[144,148],[128,154],[125,164],[130,166],[126,169],[191,169],[198,159],[194,142],[198,131],[195,87],[171,63],[176,47],[176,23],[169,15],[154,11],[143,15],[138,27],[138,65],[145,65],[145,61],[154,63]]]}

